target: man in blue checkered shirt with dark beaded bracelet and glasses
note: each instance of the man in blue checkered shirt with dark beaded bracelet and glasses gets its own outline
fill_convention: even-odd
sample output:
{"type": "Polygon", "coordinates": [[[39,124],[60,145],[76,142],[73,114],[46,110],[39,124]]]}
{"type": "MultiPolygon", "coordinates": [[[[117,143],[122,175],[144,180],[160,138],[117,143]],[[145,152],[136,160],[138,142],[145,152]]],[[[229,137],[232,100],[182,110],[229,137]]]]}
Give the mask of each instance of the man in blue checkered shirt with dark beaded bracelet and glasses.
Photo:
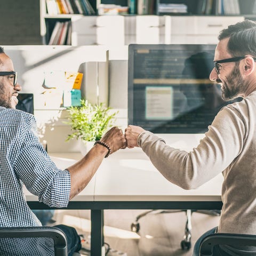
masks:
{"type": "MultiPolygon", "coordinates": [[[[126,147],[122,130],[110,129],[76,164],[60,170],[39,143],[35,117],[15,109],[21,86],[12,60],[0,47],[0,227],[42,226],[29,209],[22,185],[39,202],[51,207],[67,207],[82,191],[104,157],[126,147]]],[[[58,225],[67,237],[68,255],[81,249],[81,239],[73,227],[58,225]]],[[[40,238],[37,238],[40,239],[40,238]]],[[[0,255],[52,255],[47,240],[35,243],[0,241],[0,255]]]]}

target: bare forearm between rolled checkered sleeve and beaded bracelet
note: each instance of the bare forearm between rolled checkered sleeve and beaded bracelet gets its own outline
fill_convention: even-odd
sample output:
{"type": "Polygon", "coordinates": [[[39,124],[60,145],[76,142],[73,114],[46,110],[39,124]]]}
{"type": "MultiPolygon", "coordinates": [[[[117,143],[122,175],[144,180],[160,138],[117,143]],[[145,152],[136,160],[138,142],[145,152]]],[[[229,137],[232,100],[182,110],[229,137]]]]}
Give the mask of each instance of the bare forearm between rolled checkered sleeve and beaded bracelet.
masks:
{"type": "Polygon", "coordinates": [[[67,168],[71,177],[69,199],[72,199],[88,185],[107,153],[106,147],[97,144],[85,157],[67,168]]]}

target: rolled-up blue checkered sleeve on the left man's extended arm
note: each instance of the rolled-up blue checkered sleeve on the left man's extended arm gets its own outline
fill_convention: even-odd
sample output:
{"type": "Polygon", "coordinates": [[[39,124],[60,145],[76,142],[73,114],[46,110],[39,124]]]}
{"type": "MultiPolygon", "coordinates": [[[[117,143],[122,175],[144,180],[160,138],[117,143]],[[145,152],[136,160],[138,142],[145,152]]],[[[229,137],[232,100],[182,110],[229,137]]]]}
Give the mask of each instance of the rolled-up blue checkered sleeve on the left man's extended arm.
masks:
{"type": "Polygon", "coordinates": [[[30,193],[38,196],[39,202],[51,207],[66,207],[70,194],[70,173],[60,170],[52,162],[37,137],[34,117],[27,122],[17,145],[18,157],[14,172],[30,193]]]}

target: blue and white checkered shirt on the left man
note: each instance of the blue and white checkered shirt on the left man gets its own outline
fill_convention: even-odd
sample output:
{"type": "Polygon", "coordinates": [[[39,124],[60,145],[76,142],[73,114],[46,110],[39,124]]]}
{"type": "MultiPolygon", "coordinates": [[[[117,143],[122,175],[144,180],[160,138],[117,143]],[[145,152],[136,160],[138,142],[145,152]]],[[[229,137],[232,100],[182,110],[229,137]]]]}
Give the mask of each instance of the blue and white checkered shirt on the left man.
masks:
{"type": "Polygon", "coordinates": [[[66,207],[70,174],[58,169],[39,143],[35,117],[0,107],[0,227],[41,226],[22,186],[49,206],[66,207]]]}

